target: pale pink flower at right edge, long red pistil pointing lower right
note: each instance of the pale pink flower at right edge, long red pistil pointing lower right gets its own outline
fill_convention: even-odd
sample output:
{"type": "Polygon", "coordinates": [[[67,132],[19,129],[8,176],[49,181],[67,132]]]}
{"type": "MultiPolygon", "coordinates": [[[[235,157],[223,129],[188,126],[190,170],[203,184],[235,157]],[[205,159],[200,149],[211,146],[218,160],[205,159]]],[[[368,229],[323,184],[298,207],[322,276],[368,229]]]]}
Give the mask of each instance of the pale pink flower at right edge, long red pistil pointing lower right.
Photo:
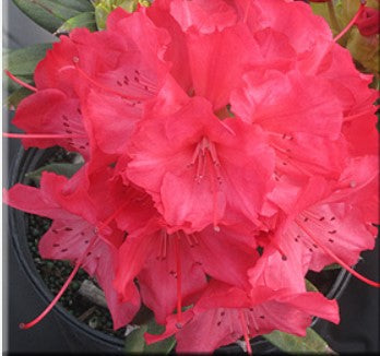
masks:
{"type": "MultiPolygon", "coordinates": [[[[377,223],[379,207],[351,204],[378,175],[377,159],[371,158],[353,161],[335,187],[321,178],[311,178],[296,199],[285,195],[281,189],[273,192],[271,199],[286,212],[286,222],[276,233],[276,244],[285,256],[298,249],[295,244],[300,244],[302,249],[312,252],[309,268],[320,271],[333,262],[353,265],[360,251],[373,248],[371,223],[377,223]]],[[[373,199],[366,197],[367,202],[373,199]]]]}

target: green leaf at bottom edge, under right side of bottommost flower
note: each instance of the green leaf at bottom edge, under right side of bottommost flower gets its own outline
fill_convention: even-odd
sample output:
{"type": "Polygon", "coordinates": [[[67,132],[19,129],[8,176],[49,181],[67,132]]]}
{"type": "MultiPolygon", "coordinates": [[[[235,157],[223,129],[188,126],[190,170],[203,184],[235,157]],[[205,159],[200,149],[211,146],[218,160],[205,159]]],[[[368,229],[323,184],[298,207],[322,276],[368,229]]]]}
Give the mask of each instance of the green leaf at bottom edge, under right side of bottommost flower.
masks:
{"type": "Polygon", "coordinates": [[[336,354],[326,342],[312,329],[307,329],[305,337],[292,335],[281,331],[273,331],[263,335],[269,342],[287,353],[320,353],[336,354]]]}

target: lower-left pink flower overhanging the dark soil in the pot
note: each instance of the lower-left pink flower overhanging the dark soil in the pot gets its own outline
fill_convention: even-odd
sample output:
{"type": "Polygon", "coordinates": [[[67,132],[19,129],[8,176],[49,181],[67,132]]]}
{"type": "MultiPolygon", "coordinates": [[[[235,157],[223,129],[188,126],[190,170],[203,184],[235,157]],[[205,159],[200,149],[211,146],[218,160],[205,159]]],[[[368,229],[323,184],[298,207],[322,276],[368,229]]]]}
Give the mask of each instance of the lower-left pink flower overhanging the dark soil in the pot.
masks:
{"type": "MultiPolygon", "coordinates": [[[[114,329],[119,329],[130,322],[140,308],[140,296],[133,282],[129,285],[128,302],[119,300],[111,285],[117,250],[124,234],[111,222],[103,224],[106,222],[106,218],[100,219],[104,203],[94,205],[84,191],[66,193],[68,185],[67,178],[44,173],[40,189],[19,183],[5,192],[4,201],[13,207],[52,219],[51,227],[39,241],[41,257],[75,262],[78,268],[83,266],[88,274],[95,275],[105,292],[114,329]]],[[[97,199],[104,195],[102,191],[95,194],[97,199]]]]}

